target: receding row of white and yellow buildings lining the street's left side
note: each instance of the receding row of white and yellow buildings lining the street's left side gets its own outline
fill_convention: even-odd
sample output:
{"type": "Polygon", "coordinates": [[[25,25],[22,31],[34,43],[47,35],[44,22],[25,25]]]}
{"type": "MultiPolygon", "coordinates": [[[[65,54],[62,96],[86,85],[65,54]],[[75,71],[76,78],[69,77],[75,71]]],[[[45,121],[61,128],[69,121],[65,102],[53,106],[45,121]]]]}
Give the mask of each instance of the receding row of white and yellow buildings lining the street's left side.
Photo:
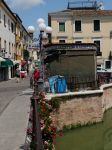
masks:
{"type": "Polygon", "coordinates": [[[25,59],[31,37],[22,25],[21,18],[0,0],[0,81],[11,79],[25,59]]]}

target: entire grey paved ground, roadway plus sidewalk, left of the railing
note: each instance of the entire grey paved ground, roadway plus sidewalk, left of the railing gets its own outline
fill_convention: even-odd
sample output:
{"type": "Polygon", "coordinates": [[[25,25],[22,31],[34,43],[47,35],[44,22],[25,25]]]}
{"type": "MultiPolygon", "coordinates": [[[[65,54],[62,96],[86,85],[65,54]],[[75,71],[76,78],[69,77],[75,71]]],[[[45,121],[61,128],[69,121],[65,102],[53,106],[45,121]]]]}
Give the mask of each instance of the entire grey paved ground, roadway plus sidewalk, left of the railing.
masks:
{"type": "Polygon", "coordinates": [[[25,142],[30,96],[29,77],[16,83],[15,79],[0,82],[0,147],[21,150],[25,142]]]}

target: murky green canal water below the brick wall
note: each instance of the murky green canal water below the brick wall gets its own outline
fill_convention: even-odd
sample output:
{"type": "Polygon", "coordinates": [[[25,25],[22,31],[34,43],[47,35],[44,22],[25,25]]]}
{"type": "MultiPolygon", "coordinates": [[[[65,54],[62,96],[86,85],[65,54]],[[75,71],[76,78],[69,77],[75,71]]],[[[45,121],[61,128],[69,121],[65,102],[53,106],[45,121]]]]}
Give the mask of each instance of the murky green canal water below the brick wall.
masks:
{"type": "Polygon", "coordinates": [[[56,138],[56,150],[112,150],[112,109],[102,123],[81,127],[56,138]]]}

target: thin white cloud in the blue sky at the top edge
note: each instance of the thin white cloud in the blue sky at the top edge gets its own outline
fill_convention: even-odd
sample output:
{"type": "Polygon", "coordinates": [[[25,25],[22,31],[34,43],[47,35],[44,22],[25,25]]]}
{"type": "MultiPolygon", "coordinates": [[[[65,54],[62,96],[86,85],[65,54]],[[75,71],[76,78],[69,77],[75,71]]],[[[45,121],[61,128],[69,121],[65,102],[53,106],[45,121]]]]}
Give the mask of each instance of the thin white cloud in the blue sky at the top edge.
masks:
{"type": "Polygon", "coordinates": [[[40,4],[44,4],[44,0],[6,0],[12,8],[30,9],[40,4]]]}

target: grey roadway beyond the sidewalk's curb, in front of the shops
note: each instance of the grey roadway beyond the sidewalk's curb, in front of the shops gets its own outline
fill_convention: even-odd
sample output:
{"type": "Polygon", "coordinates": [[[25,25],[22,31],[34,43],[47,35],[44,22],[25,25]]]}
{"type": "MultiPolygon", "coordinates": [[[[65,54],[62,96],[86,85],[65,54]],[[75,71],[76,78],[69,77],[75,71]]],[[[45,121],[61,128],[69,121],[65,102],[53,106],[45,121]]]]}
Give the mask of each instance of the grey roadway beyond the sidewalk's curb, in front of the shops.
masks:
{"type": "Polygon", "coordinates": [[[16,83],[15,79],[0,82],[0,115],[8,104],[22,91],[29,88],[29,77],[16,83]]]}

